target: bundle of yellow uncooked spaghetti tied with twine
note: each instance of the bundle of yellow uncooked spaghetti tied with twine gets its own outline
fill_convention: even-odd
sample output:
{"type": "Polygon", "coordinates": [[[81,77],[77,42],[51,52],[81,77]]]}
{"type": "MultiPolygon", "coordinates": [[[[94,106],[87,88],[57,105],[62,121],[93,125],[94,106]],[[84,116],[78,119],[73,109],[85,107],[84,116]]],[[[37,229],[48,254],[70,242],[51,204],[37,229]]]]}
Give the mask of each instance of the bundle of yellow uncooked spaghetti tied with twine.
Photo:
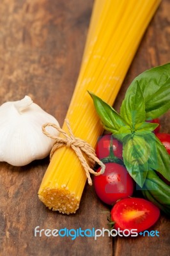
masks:
{"type": "MultiPolygon", "coordinates": [[[[137,47],[160,0],[96,0],[81,70],[66,118],[76,138],[95,148],[103,127],[88,91],[113,104],[137,47]]],[[[66,124],[63,130],[68,131],[66,124]]],[[[61,135],[62,137],[62,135],[61,135]]],[[[54,211],[79,208],[86,173],[72,148],[54,152],[38,196],[54,211]]]]}

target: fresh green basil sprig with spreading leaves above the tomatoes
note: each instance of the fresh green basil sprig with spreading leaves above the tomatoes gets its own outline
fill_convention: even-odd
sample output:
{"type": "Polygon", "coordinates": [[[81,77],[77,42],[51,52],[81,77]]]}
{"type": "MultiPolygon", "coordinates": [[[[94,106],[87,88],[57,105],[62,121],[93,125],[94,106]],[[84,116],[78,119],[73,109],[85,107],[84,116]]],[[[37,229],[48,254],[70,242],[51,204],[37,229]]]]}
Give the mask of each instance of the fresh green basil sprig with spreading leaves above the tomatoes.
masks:
{"type": "Polygon", "coordinates": [[[170,180],[170,156],[153,131],[158,124],[145,120],[157,118],[170,108],[170,63],[146,70],[130,84],[120,115],[106,102],[90,93],[95,109],[107,131],[123,143],[125,166],[142,188],[150,170],[170,180]]]}

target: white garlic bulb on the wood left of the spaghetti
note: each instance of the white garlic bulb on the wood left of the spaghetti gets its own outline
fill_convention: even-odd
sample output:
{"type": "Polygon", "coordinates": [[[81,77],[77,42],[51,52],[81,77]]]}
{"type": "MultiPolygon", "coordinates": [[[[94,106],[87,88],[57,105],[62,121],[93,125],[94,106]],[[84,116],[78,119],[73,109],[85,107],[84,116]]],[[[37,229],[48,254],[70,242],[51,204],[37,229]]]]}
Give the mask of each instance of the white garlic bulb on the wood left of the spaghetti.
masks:
{"type": "MultiPolygon", "coordinates": [[[[33,103],[29,96],[0,106],[0,161],[23,166],[48,156],[54,140],[42,132],[42,125],[51,122],[59,126],[53,116],[33,103]]],[[[58,131],[47,127],[50,134],[58,131]]]]}

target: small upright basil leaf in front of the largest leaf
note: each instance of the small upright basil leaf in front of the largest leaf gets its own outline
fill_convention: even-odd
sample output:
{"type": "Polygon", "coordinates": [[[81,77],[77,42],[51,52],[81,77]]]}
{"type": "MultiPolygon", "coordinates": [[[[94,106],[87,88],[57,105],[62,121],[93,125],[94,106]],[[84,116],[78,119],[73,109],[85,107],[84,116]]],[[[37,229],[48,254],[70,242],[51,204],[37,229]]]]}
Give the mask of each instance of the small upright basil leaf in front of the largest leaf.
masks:
{"type": "Polygon", "coordinates": [[[138,81],[127,90],[121,104],[120,115],[130,127],[146,120],[144,97],[138,81]]]}

